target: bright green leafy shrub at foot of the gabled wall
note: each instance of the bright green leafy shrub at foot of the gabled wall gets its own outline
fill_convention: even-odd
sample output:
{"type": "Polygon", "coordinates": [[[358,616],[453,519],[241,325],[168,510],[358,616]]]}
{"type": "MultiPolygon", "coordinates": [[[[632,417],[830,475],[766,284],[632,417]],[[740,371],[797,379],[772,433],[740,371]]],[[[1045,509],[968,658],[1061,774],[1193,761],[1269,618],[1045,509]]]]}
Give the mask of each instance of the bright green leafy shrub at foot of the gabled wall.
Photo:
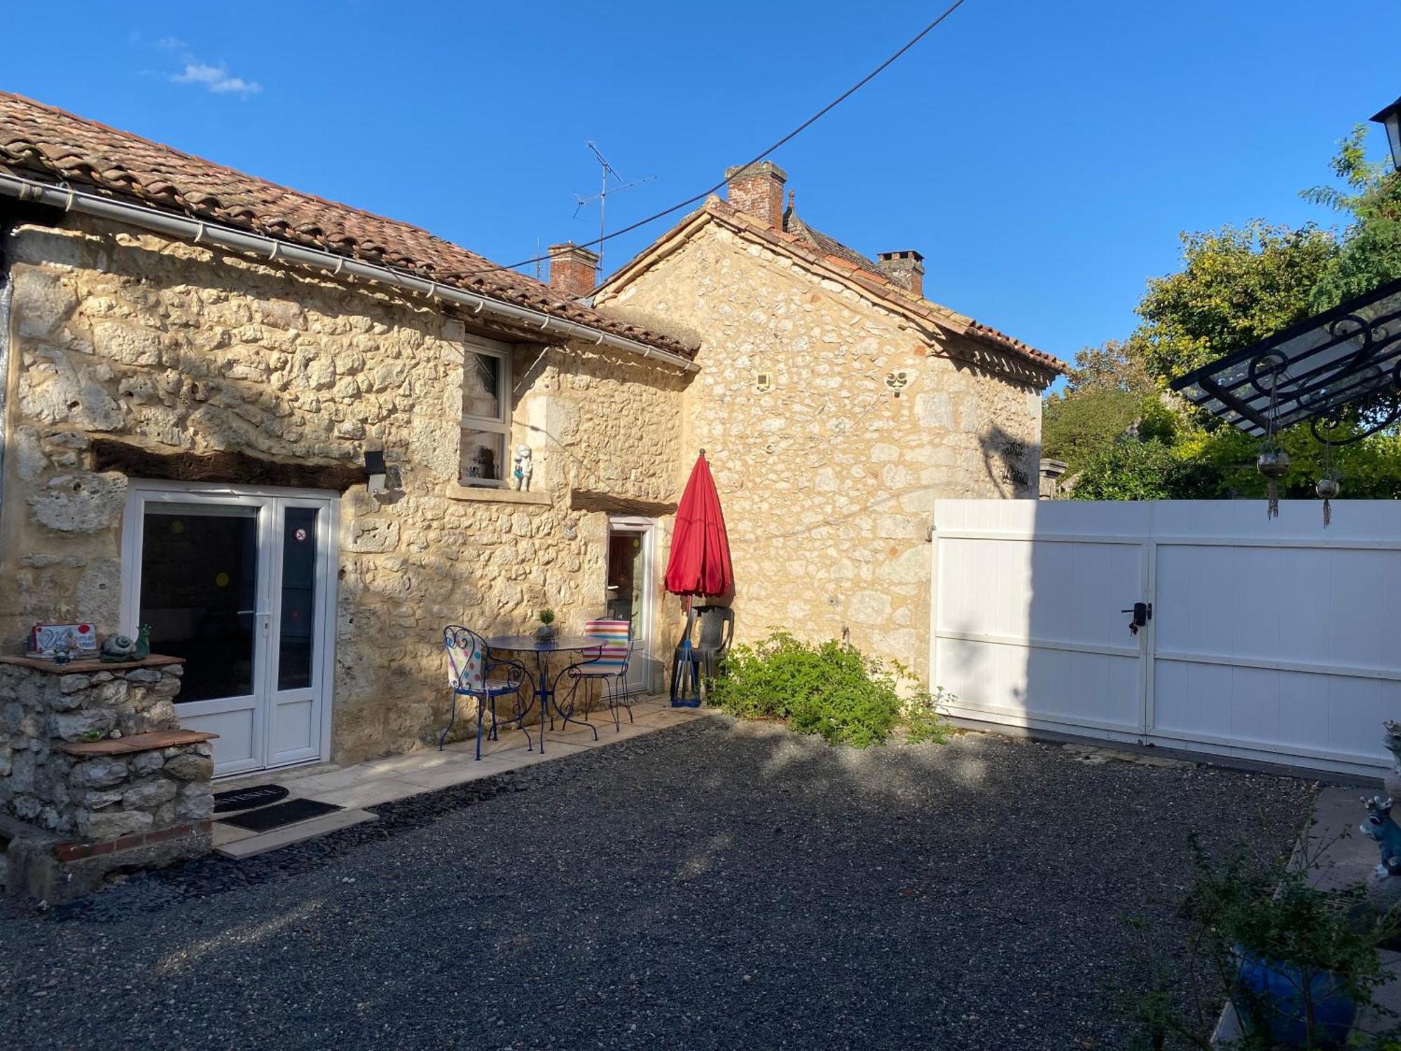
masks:
{"type": "Polygon", "coordinates": [[[936,699],[929,691],[901,698],[901,671],[891,674],[874,657],[836,640],[808,643],[779,632],[730,652],[727,674],[715,682],[710,702],[740,717],[783,719],[828,744],[881,744],[902,717],[911,722],[911,740],[943,740],[936,699]]]}

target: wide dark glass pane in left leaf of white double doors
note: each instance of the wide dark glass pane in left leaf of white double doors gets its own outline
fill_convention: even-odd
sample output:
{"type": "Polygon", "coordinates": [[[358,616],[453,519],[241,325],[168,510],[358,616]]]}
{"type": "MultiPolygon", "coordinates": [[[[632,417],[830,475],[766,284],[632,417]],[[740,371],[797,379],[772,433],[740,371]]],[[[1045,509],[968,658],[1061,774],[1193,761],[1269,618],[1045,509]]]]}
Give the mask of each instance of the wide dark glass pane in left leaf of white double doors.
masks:
{"type": "Polygon", "coordinates": [[[248,696],[258,681],[258,507],[147,503],[139,622],[185,659],[178,703],[248,696]]]}

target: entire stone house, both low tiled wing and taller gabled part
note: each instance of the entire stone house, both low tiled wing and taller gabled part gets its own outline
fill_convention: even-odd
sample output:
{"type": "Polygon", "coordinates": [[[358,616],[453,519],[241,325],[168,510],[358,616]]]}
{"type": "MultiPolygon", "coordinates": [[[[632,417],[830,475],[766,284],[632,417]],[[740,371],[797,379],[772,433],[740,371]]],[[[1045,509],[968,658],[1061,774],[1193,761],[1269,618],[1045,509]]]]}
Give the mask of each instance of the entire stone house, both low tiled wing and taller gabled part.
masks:
{"type": "MultiPolygon", "coordinates": [[[[849,632],[922,666],[932,500],[1034,495],[1061,366],[923,298],[918,254],[871,262],[782,191],[772,165],[737,172],[738,207],[708,202],[590,301],[584,248],[555,245],[541,284],[0,95],[0,657],[88,622],[150,625],[184,659],[158,698],[132,685],[147,667],[0,677],[0,811],[122,824],[64,797],[108,726],[167,760],[219,734],[216,775],[429,746],[447,624],[630,617],[629,687],[660,688],[661,566],[700,447],[743,635],[849,632]]],[[[142,771],[156,788],[99,790],[165,835],[191,816],[142,771]]]]}

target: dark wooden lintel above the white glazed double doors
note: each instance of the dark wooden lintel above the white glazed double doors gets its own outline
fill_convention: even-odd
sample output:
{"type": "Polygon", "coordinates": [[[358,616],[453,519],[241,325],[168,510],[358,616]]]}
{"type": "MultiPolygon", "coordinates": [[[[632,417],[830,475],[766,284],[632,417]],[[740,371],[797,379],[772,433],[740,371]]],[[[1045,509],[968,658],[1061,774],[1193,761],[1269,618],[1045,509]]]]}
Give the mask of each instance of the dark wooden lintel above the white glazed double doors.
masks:
{"type": "Polygon", "coordinates": [[[92,441],[92,469],[170,482],[228,482],[343,493],[366,481],[364,465],[314,460],[268,460],[249,453],[163,453],[112,439],[92,441]]]}

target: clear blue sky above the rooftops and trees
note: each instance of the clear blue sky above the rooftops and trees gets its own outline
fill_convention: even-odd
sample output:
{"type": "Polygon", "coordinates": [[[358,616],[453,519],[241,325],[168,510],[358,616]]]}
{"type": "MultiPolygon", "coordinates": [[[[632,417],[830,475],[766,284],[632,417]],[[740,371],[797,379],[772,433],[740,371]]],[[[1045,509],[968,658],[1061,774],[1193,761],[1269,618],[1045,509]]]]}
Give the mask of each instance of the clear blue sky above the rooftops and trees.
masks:
{"type": "MultiPolygon", "coordinates": [[[[13,4],[0,88],[419,223],[499,262],[717,181],[943,7],[13,4]]],[[[1122,336],[1181,230],[1334,217],[1297,192],[1401,94],[1397,0],[967,0],[775,160],[799,212],[1069,357],[1122,336]]],[[[1384,153],[1380,133],[1372,136],[1384,153]]],[[[674,221],[609,242],[608,269],[674,221]]]]}

